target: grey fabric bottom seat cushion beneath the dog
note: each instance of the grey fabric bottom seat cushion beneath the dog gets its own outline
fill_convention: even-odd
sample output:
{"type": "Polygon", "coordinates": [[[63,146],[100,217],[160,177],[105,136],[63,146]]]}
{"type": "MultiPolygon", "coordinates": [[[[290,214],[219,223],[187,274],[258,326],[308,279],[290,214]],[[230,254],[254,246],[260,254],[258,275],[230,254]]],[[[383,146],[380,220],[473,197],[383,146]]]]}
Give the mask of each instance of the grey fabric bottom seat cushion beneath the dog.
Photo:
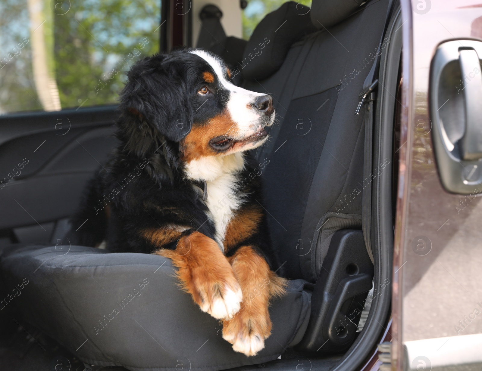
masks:
{"type": "Polygon", "coordinates": [[[309,316],[305,281],[291,281],[287,295],[270,307],[273,330],[265,348],[248,358],[234,352],[222,325],[179,289],[169,259],[60,247],[3,250],[5,287],[20,294],[2,298],[2,306],[16,306],[23,320],[91,365],[215,371],[267,362],[283,353],[309,316]]]}

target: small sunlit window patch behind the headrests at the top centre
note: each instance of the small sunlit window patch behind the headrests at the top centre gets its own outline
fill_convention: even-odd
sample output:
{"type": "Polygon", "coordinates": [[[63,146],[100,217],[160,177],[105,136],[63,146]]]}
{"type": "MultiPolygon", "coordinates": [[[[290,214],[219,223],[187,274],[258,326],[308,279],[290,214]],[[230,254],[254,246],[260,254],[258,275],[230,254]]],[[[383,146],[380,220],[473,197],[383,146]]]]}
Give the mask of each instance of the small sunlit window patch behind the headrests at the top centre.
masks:
{"type": "MultiPolygon", "coordinates": [[[[249,40],[257,24],[266,14],[278,9],[286,0],[250,0],[242,12],[242,37],[249,40]]],[[[295,0],[311,7],[311,0],[295,0]]]]}

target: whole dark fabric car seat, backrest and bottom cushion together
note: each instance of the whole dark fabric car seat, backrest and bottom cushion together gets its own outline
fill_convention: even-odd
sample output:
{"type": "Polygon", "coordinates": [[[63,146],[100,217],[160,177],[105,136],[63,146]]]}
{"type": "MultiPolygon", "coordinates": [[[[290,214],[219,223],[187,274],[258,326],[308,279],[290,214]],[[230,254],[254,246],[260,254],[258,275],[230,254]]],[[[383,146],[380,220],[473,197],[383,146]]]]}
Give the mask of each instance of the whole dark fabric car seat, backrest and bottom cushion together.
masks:
{"type": "Polygon", "coordinates": [[[82,246],[65,253],[66,241],[61,250],[12,247],[0,255],[5,286],[29,283],[7,305],[80,359],[130,370],[180,370],[180,363],[183,370],[222,370],[275,359],[299,341],[309,319],[303,288],[316,280],[323,249],[336,230],[361,226],[361,194],[351,199],[363,167],[362,116],[354,112],[388,4],[374,0],[353,9],[353,0],[313,2],[317,13],[310,16],[320,30],[296,42],[278,71],[268,68],[264,78],[244,81],[246,89],[274,97],[278,123],[257,151],[265,207],[290,278],[306,280],[292,281],[270,308],[273,330],[265,349],[249,358],[234,352],[218,322],[179,289],[170,261],[161,256],[82,246]],[[316,15],[324,6],[345,9],[348,2],[329,32],[319,25],[316,15]]]}

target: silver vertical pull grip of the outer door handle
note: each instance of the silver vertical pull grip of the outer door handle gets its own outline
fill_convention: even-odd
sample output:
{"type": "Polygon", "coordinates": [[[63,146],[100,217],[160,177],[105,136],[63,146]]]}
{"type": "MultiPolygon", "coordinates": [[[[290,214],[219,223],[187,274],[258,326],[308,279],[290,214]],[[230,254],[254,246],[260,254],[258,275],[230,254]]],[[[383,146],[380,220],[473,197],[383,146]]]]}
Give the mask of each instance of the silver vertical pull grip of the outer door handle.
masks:
{"type": "Polygon", "coordinates": [[[464,160],[482,158],[482,73],[477,51],[459,51],[458,60],[462,78],[470,81],[464,85],[465,133],[461,139],[461,155],[464,160]],[[476,73],[474,71],[479,71],[476,73]]]}

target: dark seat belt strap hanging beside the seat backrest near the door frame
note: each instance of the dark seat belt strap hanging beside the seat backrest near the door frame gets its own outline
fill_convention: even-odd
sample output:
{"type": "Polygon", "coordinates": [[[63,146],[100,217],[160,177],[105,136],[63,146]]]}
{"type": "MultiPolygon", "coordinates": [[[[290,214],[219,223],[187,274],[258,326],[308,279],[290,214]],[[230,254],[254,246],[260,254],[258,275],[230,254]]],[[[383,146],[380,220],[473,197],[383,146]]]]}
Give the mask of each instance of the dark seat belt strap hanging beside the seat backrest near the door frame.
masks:
{"type": "Polygon", "coordinates": [[[372,68],[368,73],[368,76],[363,82],[363,90],[359,94],[361,101],[358,103],[358,107],[355,111],[355,115],[360,114],[360,109],[362,106],[365,110],[365,115],[363,118],[365,125],[365,147],[363,154],[363,182],[362,182],[362,230],[363,238],[365,240],[366,250],[368,256],[372,262],[374,262],[373,250],[372,250],[372,240],[371,240],[371,226],[372,226],[372,166],[373,166],[373,124],[374,124],[374,101],[376,99],[375,88],[378,86],[378,72],[380,68],[380,47],[383,42],[383,37],[385,36],[388,28],[388,22],[390,20],[390,15],[392,13],[394,1],[388,0],[387,15],[385,18],[385,26],[380,38],[380,43],[378,44],[378,52],[375,55],[375,60],[373,62],[372,68]]]}

